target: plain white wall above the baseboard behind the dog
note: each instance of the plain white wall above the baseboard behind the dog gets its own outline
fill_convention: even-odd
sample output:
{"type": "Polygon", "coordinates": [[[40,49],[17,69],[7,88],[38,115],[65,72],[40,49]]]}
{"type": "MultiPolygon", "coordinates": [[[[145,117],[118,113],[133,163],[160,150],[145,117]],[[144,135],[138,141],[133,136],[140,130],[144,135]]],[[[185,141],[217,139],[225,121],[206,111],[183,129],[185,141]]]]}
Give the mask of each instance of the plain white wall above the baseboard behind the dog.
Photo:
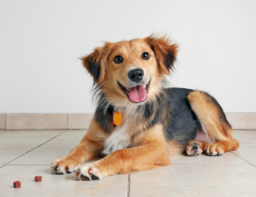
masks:
{"type": "Polygon", "coordinates": [[[78,57],[152,32],[180,44],[173,86],[256,112],[256,1],[0,2],[0,113],[93,112],[78,57]]]}

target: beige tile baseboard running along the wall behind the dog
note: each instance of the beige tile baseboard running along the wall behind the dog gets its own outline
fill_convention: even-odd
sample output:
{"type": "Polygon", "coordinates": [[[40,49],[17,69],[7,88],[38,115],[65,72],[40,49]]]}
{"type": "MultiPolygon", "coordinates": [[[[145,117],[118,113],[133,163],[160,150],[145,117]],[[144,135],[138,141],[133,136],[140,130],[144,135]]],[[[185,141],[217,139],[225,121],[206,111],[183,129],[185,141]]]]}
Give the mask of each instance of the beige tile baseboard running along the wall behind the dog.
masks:
{"type": "MultiPolygon", "coordinates": [[[[0,114],[1,130],[88,129],[93,113],[0,114]]],[[[256,113],[226,113],[233,129],[256,129],[256,113]]]]}

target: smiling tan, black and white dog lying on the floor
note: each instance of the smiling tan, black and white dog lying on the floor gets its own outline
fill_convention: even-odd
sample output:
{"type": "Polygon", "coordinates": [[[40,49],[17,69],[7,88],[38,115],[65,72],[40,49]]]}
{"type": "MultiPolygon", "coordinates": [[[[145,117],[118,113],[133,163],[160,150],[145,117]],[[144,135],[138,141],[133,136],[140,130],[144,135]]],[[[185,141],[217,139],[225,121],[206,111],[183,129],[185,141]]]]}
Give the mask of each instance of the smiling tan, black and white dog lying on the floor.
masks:
{"type": "Polygon", "coordinates": [[[168,37],[151,35],[106,42],[82,57],[94,80],[96,111],[81,142],[51,163],[52,172],[97,180],[170,165],[170,156],[183,152],[219,156],[236,150],[239,142],[215,98],[168,88],[165,75],[173,71],[177,51],[168,37]],[[117,124],[115,114],[122,115],[117,124]]]}

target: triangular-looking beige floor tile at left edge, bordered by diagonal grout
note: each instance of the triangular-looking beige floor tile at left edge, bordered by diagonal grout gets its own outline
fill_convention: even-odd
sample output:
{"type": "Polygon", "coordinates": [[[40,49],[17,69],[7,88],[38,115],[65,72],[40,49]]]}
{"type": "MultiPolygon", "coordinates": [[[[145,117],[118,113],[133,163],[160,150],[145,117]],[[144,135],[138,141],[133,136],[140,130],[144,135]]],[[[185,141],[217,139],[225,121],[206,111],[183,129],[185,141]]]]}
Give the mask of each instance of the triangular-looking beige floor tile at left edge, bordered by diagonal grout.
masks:
{"type": "Polygon", "coordinates": [[[51,137],[0,137],[0,164],[6,164],[51,137]]]}

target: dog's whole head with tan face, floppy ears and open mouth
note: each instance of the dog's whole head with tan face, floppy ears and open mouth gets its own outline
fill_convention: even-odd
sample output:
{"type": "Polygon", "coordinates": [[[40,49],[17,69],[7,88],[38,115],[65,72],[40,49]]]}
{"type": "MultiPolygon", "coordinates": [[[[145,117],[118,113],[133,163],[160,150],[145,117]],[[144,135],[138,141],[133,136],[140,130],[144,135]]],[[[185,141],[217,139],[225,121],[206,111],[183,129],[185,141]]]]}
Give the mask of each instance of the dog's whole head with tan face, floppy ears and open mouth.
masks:
{"type": "Polygon", "coordinates": [[[105,43],[81,60],[109,101],[128,107],[144,103],[160,91],[163,74],[173,69],[177,47],[166,37],[149,36],[105,43]]]}

